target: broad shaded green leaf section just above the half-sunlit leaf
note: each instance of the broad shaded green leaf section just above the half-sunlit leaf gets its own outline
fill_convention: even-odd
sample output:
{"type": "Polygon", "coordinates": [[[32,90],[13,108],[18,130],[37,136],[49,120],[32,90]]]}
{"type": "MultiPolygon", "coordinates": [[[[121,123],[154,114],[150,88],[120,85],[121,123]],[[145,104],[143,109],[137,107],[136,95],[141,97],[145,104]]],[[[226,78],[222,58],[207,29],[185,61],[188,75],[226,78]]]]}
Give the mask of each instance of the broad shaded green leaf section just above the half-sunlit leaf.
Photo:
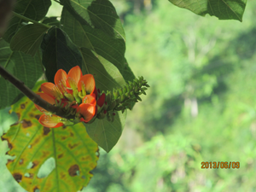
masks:
{"type": "Polygon", "coordinates": [[[125,61],[125,42],[122,39],[110,38],[105,32],[81,24],[63,8],[61,28],[67,32],[74,44],[85,47],[101,55],[122,72],[125,61]]]}

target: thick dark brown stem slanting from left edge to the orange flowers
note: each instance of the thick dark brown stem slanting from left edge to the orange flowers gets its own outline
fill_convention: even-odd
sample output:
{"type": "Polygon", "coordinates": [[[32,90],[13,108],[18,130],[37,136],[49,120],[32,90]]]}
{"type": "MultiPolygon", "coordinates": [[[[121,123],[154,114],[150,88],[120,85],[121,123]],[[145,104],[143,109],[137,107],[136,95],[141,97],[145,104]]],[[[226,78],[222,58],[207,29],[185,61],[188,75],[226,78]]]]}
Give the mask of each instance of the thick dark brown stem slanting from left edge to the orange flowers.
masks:
{"type": "Polygon", "coordinates": [[[16,79],[11,73],[7,72],[5,68],[0,66],[0,75],[8,80],[11,84],[14,84],[16,88],[18,88],[25,96],[27,96],[32,102],[44,108],[45,110],[54,113],[55,115],[60,116],[61,118],[74,119],[75,115],[69,114],[63,111],[61,108],[57,108],[54,105],[49,104],[49,102],[44,101],[40,96],[35,94],[32,90],[30,90],[23,82],[19,79],[16,79]]]}

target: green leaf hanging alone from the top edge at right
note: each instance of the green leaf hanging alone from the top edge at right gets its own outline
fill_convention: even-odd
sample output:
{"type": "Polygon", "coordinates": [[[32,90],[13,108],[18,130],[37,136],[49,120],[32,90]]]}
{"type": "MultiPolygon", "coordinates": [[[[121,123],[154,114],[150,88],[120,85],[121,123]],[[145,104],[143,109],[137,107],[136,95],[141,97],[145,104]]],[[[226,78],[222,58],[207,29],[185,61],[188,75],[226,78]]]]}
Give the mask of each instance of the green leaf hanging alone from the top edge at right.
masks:
{"type": "Polygon", "coordinates": [[[247,0],[169,0],[177,7],[189,9],[197,15],[214,15],[219,20],[242,20],[247,0]]]}

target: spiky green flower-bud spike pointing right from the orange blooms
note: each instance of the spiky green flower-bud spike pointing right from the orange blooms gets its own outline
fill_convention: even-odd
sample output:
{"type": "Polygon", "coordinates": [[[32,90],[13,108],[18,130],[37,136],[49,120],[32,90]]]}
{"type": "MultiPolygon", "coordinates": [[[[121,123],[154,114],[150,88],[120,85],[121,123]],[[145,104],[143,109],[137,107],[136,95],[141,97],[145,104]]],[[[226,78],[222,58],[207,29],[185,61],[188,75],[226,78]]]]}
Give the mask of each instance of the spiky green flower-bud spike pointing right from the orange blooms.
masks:
{"type": "Polygon", "coordinates": [[[102,119],[107,116],[107,119],[113,122],[115,111],[124,113],[127,108],[131,110],[135,102],[142,101],[140,95],[146,95],[145,90],[148,90],[148,87],[148,82],[143,77],[139,77],[133,82],[128,81],[128,84],[125,84],[123,88],[107,91],[105,108],[98,111],[101,113],[98,118],[102,119]]]}

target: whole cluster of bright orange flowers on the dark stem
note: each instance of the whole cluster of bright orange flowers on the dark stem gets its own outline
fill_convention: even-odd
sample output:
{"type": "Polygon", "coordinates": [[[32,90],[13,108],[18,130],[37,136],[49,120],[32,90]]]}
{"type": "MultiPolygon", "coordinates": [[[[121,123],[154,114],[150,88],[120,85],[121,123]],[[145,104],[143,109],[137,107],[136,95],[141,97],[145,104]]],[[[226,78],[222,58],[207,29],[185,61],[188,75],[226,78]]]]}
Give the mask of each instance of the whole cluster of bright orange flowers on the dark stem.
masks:
{"type": "MultiPolygon", "coordinates": [[[[95,79],[91,74],[82,74],[79,66],[73,67],[68,73],[59,69],[55,74],[55,84],[44,83],[41,85],[44,93],[38,93],[42,99],[52,105],[61,108],[69,108],[76,113],[79,121],[88,123],[105,102],[105,94],[97,100],[95,79]],[[98,106],[98,107],[97,107],[98,106]]],[[[67,119],[47,112],[44,108],[36,105],[36,108],[44,114],[38,120],[46,127],[60,127],[68,125],[67,119]]]]}

